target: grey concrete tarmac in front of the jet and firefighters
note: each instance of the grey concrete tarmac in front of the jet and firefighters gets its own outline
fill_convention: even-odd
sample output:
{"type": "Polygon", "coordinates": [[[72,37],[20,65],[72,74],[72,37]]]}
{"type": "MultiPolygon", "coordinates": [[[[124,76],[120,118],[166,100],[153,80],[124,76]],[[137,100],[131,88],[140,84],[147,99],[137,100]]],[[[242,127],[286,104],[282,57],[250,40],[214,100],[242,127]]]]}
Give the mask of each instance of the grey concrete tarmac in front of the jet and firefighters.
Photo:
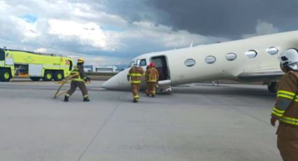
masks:
{"type": "Polygon", "coordinates": [[[180,85],[134,104],[102,83],[87,85],[91,102],[78,90],[67,103],[57,83],[0,83],[1,160],[281,160],[265,86],[180,85]]]}

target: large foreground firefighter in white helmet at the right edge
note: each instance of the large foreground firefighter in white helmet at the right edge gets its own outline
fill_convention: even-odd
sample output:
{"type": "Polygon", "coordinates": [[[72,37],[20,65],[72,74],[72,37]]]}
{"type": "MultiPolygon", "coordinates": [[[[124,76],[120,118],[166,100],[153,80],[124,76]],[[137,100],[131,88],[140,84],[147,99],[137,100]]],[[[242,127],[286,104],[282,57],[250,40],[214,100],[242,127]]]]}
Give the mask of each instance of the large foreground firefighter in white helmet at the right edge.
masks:
{"type": "Polygon", "coordinates": [[[298,160],[298,51],[290,48],[278,57],[285,74],[277,86],[277,99],[271,125],[279,121],[277,146],[285,161],[298,160]]]}

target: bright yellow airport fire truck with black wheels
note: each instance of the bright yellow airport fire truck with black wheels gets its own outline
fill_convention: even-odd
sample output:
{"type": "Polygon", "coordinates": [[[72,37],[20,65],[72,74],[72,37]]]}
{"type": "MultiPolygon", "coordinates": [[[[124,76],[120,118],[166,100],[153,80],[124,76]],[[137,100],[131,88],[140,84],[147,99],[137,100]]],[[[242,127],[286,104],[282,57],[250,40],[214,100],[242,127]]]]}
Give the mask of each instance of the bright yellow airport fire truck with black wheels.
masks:
{"type": "Polygon", "coordinates": [[[72,58],[61,55],[0,48],[0,81],[15,76],[34,81],[62,80],[72,71],[72,62],[72,58]]]}

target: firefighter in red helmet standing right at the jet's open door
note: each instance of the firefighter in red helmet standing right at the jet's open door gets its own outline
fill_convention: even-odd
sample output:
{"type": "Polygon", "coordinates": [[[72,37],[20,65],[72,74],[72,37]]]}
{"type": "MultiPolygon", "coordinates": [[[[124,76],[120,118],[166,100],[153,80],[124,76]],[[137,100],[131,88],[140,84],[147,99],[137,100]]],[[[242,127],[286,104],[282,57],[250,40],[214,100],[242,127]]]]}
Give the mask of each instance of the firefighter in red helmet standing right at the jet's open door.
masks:
{"type": "Polygon", "coordinates": [[[158,71],[155,69],[155,64],[154,62],[151,62],[149,65],[149,69],[147,69],[145,78],[147,82],[147,87],[146,87],[146,94],[149,96],[151,94],[152,97],[155,97],[156,94],[156,85],[158,81],[158,71]]]}

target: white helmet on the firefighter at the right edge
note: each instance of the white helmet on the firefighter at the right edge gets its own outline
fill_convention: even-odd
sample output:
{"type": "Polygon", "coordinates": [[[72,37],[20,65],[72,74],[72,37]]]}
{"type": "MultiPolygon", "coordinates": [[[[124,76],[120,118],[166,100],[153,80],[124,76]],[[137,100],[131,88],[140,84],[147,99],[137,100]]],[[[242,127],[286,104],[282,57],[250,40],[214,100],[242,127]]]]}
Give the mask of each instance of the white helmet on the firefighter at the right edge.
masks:
{"type": "Polygon", "coordinates": [[[298,52],[294,48],[285,50],[278,57],[280,66],[289,66],[291,69],[298,70],[298,52]]]}

